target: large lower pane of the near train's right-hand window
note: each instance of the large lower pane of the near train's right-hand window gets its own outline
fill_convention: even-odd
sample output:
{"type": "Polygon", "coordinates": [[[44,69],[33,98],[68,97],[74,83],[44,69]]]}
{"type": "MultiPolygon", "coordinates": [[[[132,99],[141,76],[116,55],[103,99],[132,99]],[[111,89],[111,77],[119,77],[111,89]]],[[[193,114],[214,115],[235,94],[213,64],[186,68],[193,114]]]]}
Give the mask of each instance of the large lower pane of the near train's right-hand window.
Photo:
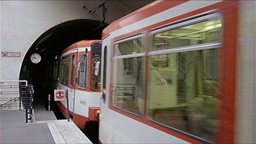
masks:
{"type": "Polygon", "coordinates": [[[218,49],[149,57],[151,120],[213,140],[219,108],[218,49]]]}

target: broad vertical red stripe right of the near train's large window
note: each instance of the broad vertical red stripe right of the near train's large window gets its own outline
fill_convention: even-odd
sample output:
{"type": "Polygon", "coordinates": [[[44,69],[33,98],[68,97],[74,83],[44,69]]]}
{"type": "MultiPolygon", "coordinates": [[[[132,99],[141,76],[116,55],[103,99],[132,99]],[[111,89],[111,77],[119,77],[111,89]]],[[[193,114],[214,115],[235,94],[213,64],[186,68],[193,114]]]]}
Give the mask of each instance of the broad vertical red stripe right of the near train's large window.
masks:
{"type": "Polygon", "coordinates": [[[237,8],[238,1],[225,1],[221,6],[224,14],[224,45],[221,63],[221,112],[216,143],[234,143],[235,85],[237,57],[237,8]]]}

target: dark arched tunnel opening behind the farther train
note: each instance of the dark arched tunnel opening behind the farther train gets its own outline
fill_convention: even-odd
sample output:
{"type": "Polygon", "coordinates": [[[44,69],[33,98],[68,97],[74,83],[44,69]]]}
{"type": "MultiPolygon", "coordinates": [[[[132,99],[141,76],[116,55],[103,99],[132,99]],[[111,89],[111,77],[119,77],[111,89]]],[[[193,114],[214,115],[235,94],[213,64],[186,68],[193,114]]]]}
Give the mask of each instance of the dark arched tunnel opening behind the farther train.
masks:
{"type": "Polygon", "coordinates": [[[92,19],[74,19],[57,24],[46,30],[27,50],[22,67],[19,73],[20,80],[27,80],[35,89],[34,107],[43,104],[48,109],[48,96],[50,96],[50,110],[57,115],[56,103],[53,102],[53,91],[56,89],[58,73],[51,69],[50,64],[56,61],[55,68],[58,68],[58,61],[61,58],[61,51],[69,45],[80,40],[100,40],[102,30],[107,24],[92,19]],[[39,63],[32,63],[30,55],[39,53],[39,63]]]}

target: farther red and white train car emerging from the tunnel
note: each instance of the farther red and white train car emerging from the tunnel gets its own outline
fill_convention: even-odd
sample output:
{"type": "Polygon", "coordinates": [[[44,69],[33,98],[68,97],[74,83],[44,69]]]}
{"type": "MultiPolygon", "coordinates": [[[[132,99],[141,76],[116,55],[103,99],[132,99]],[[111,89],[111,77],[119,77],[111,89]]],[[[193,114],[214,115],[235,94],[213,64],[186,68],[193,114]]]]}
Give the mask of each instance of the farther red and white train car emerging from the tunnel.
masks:
{"type": "MultiPolygon", "coordinates": [[[[58,89],[68,89],[69,116],[81,130],[87,122],[99,120],[101,44],[101,40],[82,40],[61,54],[58,89]]],[[[57,104],[68,117],[67,99],[57,104]]]]}

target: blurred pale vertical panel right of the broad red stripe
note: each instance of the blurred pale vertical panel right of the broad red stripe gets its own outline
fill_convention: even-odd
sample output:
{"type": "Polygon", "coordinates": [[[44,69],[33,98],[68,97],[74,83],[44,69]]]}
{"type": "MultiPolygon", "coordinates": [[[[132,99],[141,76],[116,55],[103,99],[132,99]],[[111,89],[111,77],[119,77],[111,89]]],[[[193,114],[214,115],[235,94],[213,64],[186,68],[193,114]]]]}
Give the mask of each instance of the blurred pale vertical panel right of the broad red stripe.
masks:
{"type": "Polygon", "coordinates": [[[256,2],[239,1],[235,143],[256,143],[256,2]]]}

